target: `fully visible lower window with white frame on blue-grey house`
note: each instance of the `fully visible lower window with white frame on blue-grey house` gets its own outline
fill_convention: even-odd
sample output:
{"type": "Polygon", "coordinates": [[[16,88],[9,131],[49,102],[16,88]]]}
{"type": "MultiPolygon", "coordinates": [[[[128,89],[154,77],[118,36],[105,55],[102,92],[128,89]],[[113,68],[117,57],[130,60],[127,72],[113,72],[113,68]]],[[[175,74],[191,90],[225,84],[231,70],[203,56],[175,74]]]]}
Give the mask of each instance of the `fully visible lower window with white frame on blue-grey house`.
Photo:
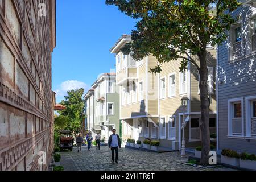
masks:
{"type": "Polygon", "coordinates": [[[243,135],[243,98],[228,100],[228,135],[243,135]]]}

